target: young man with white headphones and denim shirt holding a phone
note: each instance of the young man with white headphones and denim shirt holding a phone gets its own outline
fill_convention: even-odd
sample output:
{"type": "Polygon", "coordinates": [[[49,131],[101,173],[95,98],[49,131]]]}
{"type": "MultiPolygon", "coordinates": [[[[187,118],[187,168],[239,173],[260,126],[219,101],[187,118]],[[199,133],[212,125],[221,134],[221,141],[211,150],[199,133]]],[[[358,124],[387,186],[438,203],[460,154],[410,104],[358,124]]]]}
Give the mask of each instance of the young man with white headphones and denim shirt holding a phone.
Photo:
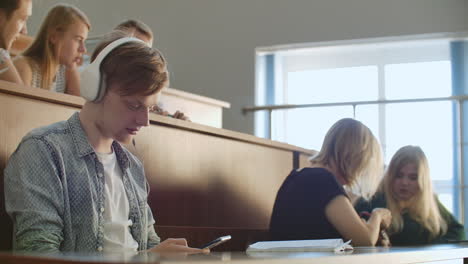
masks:
{"type": "Polygon", "coordinates": [[[143,166],[121,145],[149,125],[168,85],[162,54],[114,33],[93,58],[81,73],[81,112],[27,134],[7,164],[14,249],[206,252],[185,239],[160,242],[143,166]]]}

